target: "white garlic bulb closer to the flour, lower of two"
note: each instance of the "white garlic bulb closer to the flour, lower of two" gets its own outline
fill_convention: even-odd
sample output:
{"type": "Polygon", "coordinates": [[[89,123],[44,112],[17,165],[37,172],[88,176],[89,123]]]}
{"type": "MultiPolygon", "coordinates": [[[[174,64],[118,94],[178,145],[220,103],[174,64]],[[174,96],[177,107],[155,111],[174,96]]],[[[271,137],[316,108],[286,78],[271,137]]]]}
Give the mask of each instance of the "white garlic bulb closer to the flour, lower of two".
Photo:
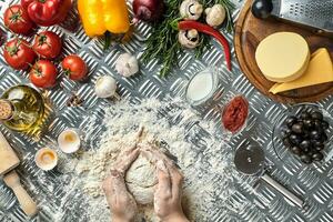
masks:
{"type": "Polygon", "coordinates": [[[94,92],[99,98],[114,97],[117,90],[117,82],[110,75],[99,77],[94,85],[94,92]]]}

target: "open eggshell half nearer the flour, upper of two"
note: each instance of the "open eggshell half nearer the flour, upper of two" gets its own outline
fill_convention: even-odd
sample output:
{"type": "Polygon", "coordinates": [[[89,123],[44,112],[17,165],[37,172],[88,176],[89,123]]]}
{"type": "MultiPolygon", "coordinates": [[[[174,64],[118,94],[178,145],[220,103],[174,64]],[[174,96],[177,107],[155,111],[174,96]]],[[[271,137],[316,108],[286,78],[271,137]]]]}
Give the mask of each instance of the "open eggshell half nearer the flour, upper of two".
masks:
{"type": "Polygon", "coordinates": [[[81,147],[81,139],[75,129],[67,129],[58,137],[58,145],[64,153],[77,152],[81,147]]]}

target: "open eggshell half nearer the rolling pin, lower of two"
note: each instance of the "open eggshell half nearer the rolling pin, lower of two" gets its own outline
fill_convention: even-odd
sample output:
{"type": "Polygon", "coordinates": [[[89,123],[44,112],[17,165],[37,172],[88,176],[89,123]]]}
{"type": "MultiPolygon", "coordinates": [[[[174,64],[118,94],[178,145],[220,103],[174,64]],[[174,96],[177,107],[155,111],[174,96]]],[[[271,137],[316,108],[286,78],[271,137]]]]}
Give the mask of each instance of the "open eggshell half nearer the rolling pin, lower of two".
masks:
{"type": "Polygon", "coordinates": [[[49,171],[58,164],[58,154],[50,148],[42,148],[36,153],[34,162],[40,169],[49,171]]]}

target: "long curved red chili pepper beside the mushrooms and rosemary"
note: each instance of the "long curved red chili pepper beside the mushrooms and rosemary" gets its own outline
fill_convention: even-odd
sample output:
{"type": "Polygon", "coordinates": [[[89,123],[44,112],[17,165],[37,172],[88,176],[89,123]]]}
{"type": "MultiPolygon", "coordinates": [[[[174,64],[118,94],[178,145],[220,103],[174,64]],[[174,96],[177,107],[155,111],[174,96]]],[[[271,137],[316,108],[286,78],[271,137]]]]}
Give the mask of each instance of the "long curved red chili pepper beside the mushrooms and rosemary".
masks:
{"type": "Polygon", "coordinates": [[[210,27],[208,24],[204,24],[204,23],[201,23],[198,21],[191,21],[191,20],[180,21],[178,23],[178,29],[180,29],[180,30],[196,29],[199,32],[214,37],[222,44],[222,47],[224,49],[226,67],[229,70],[231,70],[231,54],[230,54],[229,42],[220,31],[213,29],[212,27],[210,27]]]}

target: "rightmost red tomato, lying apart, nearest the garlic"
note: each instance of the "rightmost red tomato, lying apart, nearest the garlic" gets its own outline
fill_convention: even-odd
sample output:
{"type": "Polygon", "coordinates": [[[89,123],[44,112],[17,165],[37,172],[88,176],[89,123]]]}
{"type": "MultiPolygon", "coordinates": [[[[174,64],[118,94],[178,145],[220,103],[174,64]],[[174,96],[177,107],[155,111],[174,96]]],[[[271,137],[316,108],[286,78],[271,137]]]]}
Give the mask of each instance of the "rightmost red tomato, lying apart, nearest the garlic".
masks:
{"type": "Polygon", "coordinates": [[[62,69],[71,80],[82,80],[88,73],[85,62],[77,54],[71,54],[62,60],[62,69]]]}

